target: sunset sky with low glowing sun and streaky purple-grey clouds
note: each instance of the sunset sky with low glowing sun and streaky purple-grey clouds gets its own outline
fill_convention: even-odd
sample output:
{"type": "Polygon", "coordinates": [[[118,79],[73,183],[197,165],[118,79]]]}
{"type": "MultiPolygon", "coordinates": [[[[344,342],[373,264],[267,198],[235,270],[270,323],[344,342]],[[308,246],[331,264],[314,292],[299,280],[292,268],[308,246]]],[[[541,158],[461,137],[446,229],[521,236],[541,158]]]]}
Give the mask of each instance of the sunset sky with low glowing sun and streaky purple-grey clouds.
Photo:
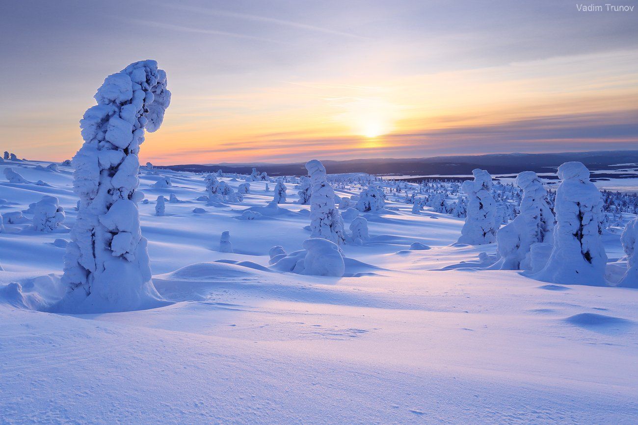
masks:
{"type": "Polygon", "coordinates": [[[96,89],[142,59],[172,92],[142,162],[636,149],[624,1],[0,0],[0,150],[71,158],[96,89]]]}

